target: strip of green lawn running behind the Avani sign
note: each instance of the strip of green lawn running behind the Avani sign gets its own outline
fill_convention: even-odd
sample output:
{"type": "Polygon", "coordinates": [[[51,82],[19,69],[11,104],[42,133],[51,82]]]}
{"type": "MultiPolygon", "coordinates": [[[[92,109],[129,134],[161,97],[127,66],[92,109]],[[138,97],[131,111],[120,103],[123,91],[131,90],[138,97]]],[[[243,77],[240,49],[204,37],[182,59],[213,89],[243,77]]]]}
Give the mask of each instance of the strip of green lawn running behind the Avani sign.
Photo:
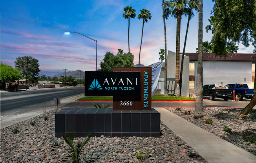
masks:
{"type": "MultiPolygon", "coordinates": [[[[112,96],[86,96],[78,100],[113,100],[113,97],[112,96]]],[[[195,98],[175,97],[174,95],[165,96],[163,94],[155,94],[152,97],[152,100],[195,100],[195,98]]]]}

